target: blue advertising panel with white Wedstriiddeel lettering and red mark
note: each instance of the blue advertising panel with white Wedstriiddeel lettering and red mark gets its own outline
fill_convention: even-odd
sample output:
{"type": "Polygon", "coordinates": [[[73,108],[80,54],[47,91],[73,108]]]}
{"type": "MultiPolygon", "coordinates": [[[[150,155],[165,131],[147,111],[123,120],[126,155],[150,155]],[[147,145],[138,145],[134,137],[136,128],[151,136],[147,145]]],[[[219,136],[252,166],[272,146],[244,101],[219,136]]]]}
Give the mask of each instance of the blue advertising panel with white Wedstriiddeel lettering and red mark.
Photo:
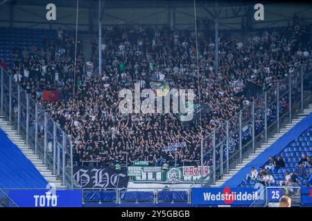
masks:
{"type": "Polygon", "coordinates": [[[253,188],[193,188],[193,205],[250,205],[261,191],[253,188]]]}

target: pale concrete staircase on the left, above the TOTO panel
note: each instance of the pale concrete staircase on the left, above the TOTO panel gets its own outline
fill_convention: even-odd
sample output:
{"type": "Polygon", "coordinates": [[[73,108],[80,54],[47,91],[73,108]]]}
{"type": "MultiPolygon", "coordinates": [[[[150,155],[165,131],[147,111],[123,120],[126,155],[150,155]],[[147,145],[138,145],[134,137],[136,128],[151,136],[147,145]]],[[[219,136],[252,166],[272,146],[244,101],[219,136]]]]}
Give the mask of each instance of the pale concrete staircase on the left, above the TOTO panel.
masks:
{"type": "Polygon", "coordinates": [[[12,129],[12,126],[9,125],[9,122],[5,121],[4,117],[0,117],[0,128],[6,133],[10,140],[19,147],[21,152],[33,163],[51,186],[55,186],[56,189],[67,189],[67,186],[64,186],[62,181],[58,180],[57,175],[53,175],[52,170],[44,164],[44,160],[41,160],[40,156],[35,154],[31,146],[26,144],[21,135],[17,134],[17,131],[12,129]]]}

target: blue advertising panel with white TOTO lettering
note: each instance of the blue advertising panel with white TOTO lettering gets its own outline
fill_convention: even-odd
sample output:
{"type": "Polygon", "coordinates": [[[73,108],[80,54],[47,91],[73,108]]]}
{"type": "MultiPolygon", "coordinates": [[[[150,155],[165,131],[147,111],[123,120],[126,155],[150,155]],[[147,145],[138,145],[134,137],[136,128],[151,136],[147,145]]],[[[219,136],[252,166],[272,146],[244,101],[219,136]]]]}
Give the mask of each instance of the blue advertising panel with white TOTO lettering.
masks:
{"type": "Polygon", "coordinates": [[[81,190],[10,190],[9,197],[19,207],[81,207],[81,190]]]}

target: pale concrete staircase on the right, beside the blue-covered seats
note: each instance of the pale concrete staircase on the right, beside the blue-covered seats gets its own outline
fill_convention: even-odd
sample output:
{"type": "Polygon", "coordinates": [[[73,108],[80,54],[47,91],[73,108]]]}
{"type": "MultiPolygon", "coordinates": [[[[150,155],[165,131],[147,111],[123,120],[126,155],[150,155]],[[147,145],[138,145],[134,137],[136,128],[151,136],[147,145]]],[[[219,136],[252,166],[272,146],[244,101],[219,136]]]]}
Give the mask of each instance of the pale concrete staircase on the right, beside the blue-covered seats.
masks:
{"type": "Polygon", "coordinates": [[[259,148],[256,148],[255,153],[250,153],[248,155],[248,158],[243,159],[243,162],[241,164],[236,164],[234,169],[230,169],[228,174],[225,174],[221,177],[221,179],[216,181],[216,184],[211,185],[212,187],[216,186],[222,186],[227,180],[229,180],[231,177],[233,177],[237,172],[239,172],[243,167],[245,167],[247,164],[249,164],[254,158],[256,158],[260,153],[266,150],[269,146],[271,146],[274,142],[276,142],[279,137],[284,135],[287,131],[291,130],[293,126],[295,126],[297,123],[299,123],[304,117],[312,113],[312,104],[309,104],[309,108],[305,108],[303,113],[297,114],[297,118],[293,119],[291,121],[291,124],[286,124],[285,128],[282,128],[279,133],[276,133],[273,135],[272,138],[268,139],[268,142],[266,144],[261,144],[259,148]]]}

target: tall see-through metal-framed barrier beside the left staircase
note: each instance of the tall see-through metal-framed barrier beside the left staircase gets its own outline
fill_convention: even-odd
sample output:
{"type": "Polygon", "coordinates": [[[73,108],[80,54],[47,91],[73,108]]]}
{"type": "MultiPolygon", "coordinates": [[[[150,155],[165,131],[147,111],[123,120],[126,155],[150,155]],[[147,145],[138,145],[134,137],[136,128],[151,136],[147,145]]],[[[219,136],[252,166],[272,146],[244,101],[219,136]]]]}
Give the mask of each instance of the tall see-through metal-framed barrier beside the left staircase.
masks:
{"type": "Polygon", "coordinates": [[[1,69],[0,113],[62,183],[73,188],[73,148],[60,125],[1,69]]]}

